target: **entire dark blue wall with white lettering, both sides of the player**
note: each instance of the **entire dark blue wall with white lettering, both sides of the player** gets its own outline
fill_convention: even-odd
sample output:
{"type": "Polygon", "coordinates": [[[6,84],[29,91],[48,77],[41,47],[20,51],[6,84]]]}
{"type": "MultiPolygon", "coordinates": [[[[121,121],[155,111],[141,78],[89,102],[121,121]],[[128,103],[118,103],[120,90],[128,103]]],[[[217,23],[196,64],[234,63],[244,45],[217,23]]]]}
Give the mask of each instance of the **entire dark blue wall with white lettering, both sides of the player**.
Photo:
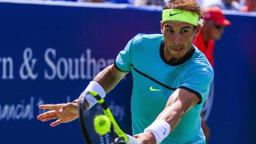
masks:
{"type": "MultiPolygon", "coordinates": [[[[78,120],[51,128],[36,119],[38,105],[76,99],[133,36],[160,33],[161,8],[0,3],[0,13],[0,144],[84,143],[78,120]]],[[[256,139],[256,16],[243,15],[227,15],[216,42],[210,144],[256,139]]],[[[107,95],[129,134],[131,89],[128,75],[107,95]]]]}

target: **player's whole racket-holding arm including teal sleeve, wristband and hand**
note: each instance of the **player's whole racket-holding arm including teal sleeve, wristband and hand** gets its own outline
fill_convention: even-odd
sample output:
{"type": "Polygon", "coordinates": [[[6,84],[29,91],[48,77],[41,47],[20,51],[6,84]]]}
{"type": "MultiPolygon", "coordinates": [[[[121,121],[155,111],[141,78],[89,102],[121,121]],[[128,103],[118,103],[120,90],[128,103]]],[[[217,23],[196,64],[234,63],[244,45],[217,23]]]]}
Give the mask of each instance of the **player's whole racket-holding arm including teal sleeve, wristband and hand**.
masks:
{"type": "MultiPolygon", "coordinates": [[[[209,95],[214,72],[208,62],[186,66],[182,83],[170,96],[157,119],[143,133],[134,137],[144,144],[159,144],[178,126],[182,117],[209,95]]],[[[199,116],[199,114],[198,114],[199,116]]]]}

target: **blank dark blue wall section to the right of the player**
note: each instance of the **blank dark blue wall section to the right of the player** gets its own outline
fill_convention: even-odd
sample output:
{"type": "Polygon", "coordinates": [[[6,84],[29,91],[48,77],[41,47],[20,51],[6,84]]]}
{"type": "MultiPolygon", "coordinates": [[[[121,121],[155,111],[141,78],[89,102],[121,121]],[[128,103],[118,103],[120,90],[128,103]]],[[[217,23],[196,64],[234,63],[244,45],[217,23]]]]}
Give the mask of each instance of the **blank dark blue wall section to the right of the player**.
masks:
{"type": "Polygon", "coordinates": [[[232,25],[215,45],[211,144],[254,144],[256,16],[227,15],[232,25]],[[221,141],[221,142],[219,142],[221,141]]]}

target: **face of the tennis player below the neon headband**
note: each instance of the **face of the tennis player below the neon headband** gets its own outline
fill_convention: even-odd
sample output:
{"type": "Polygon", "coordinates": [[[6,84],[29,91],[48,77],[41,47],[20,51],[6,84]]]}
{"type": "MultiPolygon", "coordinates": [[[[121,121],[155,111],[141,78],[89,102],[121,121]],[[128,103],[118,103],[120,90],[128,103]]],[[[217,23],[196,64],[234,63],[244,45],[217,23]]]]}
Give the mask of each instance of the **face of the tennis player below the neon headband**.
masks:
{"type": "MultiPolygon", "coordinates": [[[[199,28],[200,29],[200,28],[199,28]]],[[[161,32],[164,35],[165,50],[173,58],[182,58],[191,48],[194,37],[199,29],[182,21],[165,21],[161,23],[161,32]]]]}

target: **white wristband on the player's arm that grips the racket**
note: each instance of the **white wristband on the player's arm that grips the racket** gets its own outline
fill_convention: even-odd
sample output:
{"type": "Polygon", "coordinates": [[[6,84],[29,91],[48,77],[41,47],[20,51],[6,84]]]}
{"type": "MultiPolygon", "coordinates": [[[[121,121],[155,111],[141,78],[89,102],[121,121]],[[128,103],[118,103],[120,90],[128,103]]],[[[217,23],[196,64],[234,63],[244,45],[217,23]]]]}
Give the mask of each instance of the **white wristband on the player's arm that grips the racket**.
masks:
{"type": "Polygon", "coordinates": [[[157,144],[160,144],[169,135],[171,127],[165,120],[157,119],[148,128],[145,128],[144,132],[146,131],[152,132],[157,140],[157,144]]]}

